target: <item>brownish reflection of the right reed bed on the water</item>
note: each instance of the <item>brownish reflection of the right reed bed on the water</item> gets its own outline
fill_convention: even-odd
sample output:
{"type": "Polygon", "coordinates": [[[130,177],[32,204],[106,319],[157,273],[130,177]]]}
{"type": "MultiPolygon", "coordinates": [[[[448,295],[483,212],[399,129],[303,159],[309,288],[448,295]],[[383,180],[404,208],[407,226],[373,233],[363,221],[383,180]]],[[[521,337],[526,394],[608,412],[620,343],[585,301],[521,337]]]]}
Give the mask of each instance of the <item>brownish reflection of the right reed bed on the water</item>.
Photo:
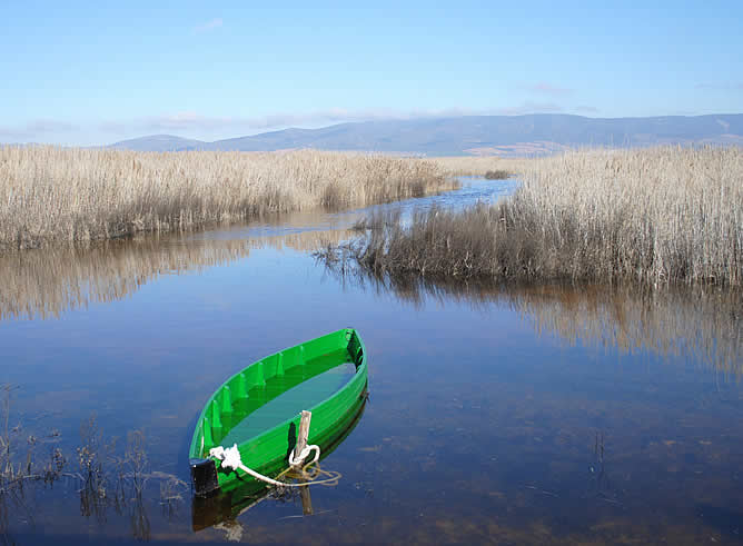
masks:
{"type": "Polygon", "coordinates": [[[743,374],[743,294],[737,289],[603,285],[495,285],[452,282],[419,276],[376,276],[353,260],[315,254],[338,281],[423,307],[467,302],[505,304],[537,335],[556,335],[568,345],[616,347],[621,354],[651,351],[684,356],[725,376],[743,374]]]}

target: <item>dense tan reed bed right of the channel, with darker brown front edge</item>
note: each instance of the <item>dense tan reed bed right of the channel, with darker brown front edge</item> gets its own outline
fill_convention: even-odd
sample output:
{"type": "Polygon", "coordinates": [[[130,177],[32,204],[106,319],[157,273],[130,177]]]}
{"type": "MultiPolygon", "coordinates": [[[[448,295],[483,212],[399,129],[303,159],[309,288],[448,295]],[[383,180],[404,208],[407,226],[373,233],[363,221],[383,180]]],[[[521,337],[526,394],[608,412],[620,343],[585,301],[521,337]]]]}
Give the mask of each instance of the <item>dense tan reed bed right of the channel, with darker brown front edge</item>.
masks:
{"type": "Polygon", "coordinates": [[[644,284],[743,280],[743,149],[593,150],[531,160],[516,193],[410,222],[371,218],[350,249],[376,274],[644,284]]]}

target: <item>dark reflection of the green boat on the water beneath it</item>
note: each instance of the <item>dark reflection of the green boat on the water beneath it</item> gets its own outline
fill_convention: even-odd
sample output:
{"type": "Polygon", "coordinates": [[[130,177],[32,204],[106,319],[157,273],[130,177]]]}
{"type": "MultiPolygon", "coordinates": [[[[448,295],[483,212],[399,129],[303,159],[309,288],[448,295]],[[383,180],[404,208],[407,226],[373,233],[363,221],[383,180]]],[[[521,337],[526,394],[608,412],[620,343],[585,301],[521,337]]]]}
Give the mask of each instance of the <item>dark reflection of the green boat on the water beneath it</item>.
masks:
{"type": "MultiPolygon", "coordinates": [[[[320,461],[335,451],[340,444],[354,431],[361,420],[366,403],[361,404],[358,411],[349,415],[345,424],[340,424],[339,435],[331,438],[329,443],[320,445],[320,461]]],[[[313,478],[313,468],[308,469],[309,478],[313,478]]],[[[334,484],[329,484],[334,485],[334,484]]],[[[311,486],[293,487],[284,490],[269,488],[260,482],[250,482],[229,493],[220,493],[211,497],[194,497],[191,503],[191,526],[195,532],[209,527],[226,530],[228,538],[241,533],[237,518],[250,508],[265,500],[290,502],[299,498],[304,515],[311,515],[311,486]]]]}

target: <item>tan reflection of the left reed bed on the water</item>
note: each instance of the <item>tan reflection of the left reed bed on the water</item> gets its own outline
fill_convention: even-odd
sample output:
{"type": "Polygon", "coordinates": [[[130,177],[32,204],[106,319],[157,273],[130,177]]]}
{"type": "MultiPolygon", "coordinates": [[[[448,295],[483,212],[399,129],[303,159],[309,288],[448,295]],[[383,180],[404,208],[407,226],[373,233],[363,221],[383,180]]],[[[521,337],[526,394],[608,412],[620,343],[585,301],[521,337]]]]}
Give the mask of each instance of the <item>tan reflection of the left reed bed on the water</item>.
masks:
{"type": "Polygon", "coordinates": [[[60,318],[91,304],[126,298],[165,275],[235,262],[254,249],[311,251],[345,238],[345,230],[242,239],[166,236],[110,241],[88,249],[0,255],[0,321],[60,318]]]}

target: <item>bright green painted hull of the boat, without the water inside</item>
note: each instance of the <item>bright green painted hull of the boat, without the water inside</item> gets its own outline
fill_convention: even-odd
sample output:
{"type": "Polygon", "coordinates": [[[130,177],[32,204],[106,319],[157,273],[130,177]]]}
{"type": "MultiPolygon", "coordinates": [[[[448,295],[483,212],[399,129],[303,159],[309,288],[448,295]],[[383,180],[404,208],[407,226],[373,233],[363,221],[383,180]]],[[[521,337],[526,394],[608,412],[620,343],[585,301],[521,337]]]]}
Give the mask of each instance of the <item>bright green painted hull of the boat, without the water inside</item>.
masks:
{"type": "MultiPolygon", "coordinates": [[[[281,389],[288,390],[317,377],[326,366],[331,366],[324,364],[328,355],[339,351],[347,355],[347,361],[355,366],[355,373],[329,397],[303,409],[313,413],[309,444],[323,447],[344,434],[349,418],[353,419],[359,413],[366,400],[368,381],[366,349],[353,328],[262,358],[235,374],[215,391],[197,420],[189,449],[191,478],[197,496],[259,485],[255,478],[240,470],[220,468],[219,463],[209,457],[209,450],[222,445],[224,439],[231,439],[232,428],[258,409],[255,404],[261,404],[267,400],[267,396],[274,396],[276,385],[279,385],[277,396],[280,396],[281,389]]],[[[300,413],[297,413],[256,436],[236,441],[242,464],[266,476],[275,476],[287,468],[289,454],[296,445],[299,420],[300,413]]],[[[231,444],[224,447],[231,447],[231,444]]]]}

